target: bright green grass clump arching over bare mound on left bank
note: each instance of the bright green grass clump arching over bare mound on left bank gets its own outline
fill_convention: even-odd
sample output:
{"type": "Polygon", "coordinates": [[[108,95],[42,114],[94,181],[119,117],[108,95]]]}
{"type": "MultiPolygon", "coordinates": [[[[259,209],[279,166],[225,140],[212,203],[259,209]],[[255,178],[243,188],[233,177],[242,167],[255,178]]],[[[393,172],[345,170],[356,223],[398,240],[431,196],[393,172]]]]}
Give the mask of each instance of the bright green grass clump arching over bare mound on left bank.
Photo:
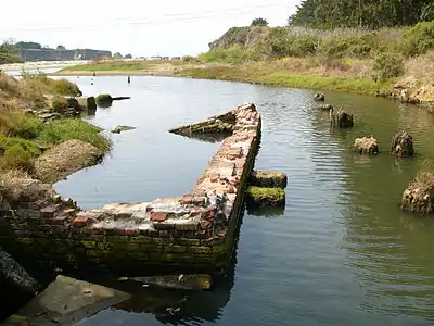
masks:
{"type": "Polygon", "coordinates": [[[79,118],[58,120],[49,124],[40,134],[42,143],[61,143],[71,139],[78,139],[93,145],[102,152],[111,149],[110,139],[100,135],[101,129],[79,118]]]}

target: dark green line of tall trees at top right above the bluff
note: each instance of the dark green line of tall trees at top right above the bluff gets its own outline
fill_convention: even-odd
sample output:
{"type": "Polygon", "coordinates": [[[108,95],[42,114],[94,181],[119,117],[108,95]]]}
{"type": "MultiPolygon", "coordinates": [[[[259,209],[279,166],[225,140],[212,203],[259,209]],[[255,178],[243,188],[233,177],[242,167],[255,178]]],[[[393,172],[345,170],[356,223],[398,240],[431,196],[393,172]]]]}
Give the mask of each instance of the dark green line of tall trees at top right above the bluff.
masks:
{"type": "Polygon", "coordinates": [[[303,0],[290,26],[311,28],[409,26],[434,21],[433,0],[303,0]]]}

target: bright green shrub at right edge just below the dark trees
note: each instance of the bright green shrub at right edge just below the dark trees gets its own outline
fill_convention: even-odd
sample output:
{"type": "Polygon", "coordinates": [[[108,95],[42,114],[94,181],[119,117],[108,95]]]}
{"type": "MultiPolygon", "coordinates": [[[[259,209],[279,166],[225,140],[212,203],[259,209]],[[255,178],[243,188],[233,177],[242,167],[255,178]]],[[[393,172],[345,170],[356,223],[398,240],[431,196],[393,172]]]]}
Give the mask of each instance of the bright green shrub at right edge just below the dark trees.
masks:
{"type": "Polygon", "coordinates": [[[431,49],[434,49],[434,22],[418,23],[404,32],[405,55],[424,54],[431,49]]]}

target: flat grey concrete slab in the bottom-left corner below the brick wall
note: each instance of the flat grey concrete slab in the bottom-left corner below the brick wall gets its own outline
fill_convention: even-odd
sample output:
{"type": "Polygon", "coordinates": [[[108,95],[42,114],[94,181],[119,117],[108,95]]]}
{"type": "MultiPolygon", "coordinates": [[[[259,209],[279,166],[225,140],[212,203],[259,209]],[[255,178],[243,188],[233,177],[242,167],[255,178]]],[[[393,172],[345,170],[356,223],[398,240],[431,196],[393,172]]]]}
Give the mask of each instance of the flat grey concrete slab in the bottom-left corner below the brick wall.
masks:
{"type": "Polygon", "coordinates": [[[126,292],[59,275],[43,292],[2,325],[73,325],[129,298],[126,292]]]}

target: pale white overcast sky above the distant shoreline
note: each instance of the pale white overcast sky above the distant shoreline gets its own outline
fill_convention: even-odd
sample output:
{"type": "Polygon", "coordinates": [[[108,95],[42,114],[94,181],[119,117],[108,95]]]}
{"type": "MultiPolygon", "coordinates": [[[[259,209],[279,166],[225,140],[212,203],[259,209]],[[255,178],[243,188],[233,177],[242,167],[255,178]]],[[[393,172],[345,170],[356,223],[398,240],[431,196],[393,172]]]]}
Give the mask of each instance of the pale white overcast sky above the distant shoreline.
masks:
{"type": "Polygon", "coordinates": [[[0,39],[93,48],[122,54],[186,55],[208,49],[232,26],[265,17],[285,25],[299,0],[8,1],[0,39]],[[267,3],[268,2],[268,3],[267,3]]]}

